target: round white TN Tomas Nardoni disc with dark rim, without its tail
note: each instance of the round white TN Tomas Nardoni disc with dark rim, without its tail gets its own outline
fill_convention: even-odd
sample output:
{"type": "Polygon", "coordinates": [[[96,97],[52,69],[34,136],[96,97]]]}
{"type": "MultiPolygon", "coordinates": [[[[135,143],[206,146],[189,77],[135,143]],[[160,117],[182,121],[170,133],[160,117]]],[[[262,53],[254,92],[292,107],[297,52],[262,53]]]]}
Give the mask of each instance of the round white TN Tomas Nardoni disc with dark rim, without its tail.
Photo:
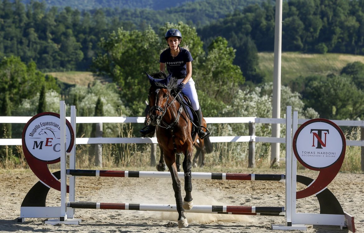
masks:
{"type": "Polygon", "coordinates": [[[317,118],[306,121],[293,137],[293,152],[305,167],[318,170],[345,156],[345,136],[332,121],[317,118]]]}

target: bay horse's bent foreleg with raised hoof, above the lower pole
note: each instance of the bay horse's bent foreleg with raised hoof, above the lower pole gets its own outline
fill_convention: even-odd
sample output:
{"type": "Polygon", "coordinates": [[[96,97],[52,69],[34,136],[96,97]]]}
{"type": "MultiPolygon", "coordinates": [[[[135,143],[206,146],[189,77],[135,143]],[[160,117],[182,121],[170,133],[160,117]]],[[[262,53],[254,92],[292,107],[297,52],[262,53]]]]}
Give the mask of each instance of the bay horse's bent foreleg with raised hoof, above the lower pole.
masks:
{"type": "Polygon", "coordinates": [[[192,145],[189,146],[185,153],[185,159],[183,160],[183,172],[185,173],[185,192],[186,196],[183,199],[183,208],[184,209],[192,209],[193,207],[193,199],[192,199],[192,181],[191,181],[191,162],[192,158],[192,145]]]}

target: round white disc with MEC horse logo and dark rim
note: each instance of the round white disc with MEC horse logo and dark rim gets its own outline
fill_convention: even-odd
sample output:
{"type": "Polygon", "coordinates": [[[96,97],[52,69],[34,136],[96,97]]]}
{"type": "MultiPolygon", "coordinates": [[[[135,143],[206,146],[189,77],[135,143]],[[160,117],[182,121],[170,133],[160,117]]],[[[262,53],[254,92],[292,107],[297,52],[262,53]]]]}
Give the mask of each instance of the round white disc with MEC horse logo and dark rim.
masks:
{"type": "MultiPolygon", "coordinates": [[[[23,145],[28,152],[42,161],[54,161],[60,158],[60,118],[58,113],[43,112],[32,117],[23,130],[23,145]]],[[[70,122],[66,120],[66,151],[74,142],[70,122]]]]}

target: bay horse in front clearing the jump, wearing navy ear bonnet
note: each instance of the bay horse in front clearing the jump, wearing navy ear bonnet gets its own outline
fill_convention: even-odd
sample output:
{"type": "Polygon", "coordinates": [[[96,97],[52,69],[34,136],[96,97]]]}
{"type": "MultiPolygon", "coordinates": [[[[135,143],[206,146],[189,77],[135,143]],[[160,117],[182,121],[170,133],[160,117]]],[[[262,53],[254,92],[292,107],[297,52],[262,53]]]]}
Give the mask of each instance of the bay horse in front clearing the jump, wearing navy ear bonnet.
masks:
{"type": "MultiPolygon", "coordinates": [[[[164,74],[164,72],[159,72],[164,74]]],[[[178,228],[188,226],[184,211],[193,207],[191,195],[191,158],[193,144],[197,141],[196,130],[182,105],[173,96],[171,91],[177,87],[177,79],[169,74],[165,79],[149,78],[151,87],[148,92],[150,124],[156,127],[157,141],[163,151],[165,163],[171,173],[172,186],[178,212],[178,228]],[[178,178],[176,156],[183,153],[182,168],[185,177],[185,198],[182,201],[181,181],[178,178]]]]}

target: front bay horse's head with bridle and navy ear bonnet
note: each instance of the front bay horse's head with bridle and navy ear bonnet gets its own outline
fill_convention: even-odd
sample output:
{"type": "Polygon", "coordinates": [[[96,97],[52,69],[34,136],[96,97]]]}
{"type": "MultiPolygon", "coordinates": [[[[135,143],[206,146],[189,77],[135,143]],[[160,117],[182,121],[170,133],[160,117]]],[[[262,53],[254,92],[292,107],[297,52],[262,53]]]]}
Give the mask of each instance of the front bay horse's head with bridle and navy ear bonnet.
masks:
{"type": "Polygon", "coordinates": [[[154,77],[161,77],[159,79],[148,74],[147,76],[151,84],[148,93],[150,124],[159,125],[169,107],[170,91],[177,85],[177,79],[172,78],[171,74],[167,76],[164,72],[153,74],[154,77]]]}

